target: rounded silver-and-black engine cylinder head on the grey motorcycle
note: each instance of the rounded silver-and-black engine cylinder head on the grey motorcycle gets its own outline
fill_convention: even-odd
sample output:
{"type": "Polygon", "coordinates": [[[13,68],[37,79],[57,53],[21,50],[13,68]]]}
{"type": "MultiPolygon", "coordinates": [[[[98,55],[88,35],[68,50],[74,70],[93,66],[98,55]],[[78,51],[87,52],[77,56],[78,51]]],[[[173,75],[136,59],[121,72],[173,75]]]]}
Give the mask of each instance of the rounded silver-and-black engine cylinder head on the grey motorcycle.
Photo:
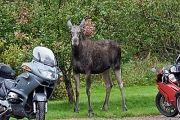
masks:
{"type": "Polygon", "coordinates": [[[12,104],[18,104],[20,102],[19,95],[14,92],[9,92],[7,100],[12,104]]]}

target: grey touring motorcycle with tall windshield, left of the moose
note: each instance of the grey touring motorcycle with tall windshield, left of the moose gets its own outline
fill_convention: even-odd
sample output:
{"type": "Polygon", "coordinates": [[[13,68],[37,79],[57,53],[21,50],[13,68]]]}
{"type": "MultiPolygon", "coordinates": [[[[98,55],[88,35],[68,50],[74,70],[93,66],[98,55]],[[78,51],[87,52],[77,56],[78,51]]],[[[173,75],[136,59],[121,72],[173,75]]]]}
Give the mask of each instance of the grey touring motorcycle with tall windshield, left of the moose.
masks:
{"type": "Polygon", "coordinates": [[[21,65],[24,72],[15,80],[14,70],[0,64],[0,120],[10,117],[45,120],[48,100],[63,75],[50,49],[37,46],[33,57],[31,62],[21,65]]]}

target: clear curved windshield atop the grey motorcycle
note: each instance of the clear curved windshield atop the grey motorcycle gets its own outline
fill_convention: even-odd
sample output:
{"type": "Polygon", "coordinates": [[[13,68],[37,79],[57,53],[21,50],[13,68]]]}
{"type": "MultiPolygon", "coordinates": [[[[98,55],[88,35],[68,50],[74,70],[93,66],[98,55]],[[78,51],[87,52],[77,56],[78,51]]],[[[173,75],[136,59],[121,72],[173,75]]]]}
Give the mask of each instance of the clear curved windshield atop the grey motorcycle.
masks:
{"type": "Polygon", "coordinates": [[[35,47],[33,49],[33,56],[35,60],[42,62],[45,65],[56,66],[54,53],[46,47],[35,47]]]}

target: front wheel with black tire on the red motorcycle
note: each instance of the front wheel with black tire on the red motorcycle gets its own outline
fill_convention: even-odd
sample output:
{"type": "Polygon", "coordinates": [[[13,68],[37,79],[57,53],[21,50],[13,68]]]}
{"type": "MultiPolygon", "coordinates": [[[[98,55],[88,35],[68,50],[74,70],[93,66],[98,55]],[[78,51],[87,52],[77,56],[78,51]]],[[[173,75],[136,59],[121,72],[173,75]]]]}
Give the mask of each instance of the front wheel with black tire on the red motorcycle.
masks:
{"type": "Polygon", "coordinates": [[[178,110],[171,103],[167,102],[160,92],[156,95],[156,106],[167,117],[174,117],[178,114],[178,110]]]}

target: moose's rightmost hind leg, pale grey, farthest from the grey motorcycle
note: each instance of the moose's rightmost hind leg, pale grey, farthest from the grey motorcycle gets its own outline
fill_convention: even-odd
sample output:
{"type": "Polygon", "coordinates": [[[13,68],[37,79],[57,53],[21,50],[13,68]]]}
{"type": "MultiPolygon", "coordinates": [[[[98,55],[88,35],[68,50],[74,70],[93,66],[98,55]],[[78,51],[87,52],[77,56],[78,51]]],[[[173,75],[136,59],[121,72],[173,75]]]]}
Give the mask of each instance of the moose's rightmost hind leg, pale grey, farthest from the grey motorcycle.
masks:
{"type": "Polygon", "coordinates": [[[123,81],[121,79],[121,70],[116,69],[116,70],[114,70],[114,73],[116,75],[117,82],[118,82],[118,85],[119,85],[119,88],[121,91],[121,95],[122,95],[122,110],[127,111],[126,104],[125,104],[125,98],[124,98],[123,81]]]}

